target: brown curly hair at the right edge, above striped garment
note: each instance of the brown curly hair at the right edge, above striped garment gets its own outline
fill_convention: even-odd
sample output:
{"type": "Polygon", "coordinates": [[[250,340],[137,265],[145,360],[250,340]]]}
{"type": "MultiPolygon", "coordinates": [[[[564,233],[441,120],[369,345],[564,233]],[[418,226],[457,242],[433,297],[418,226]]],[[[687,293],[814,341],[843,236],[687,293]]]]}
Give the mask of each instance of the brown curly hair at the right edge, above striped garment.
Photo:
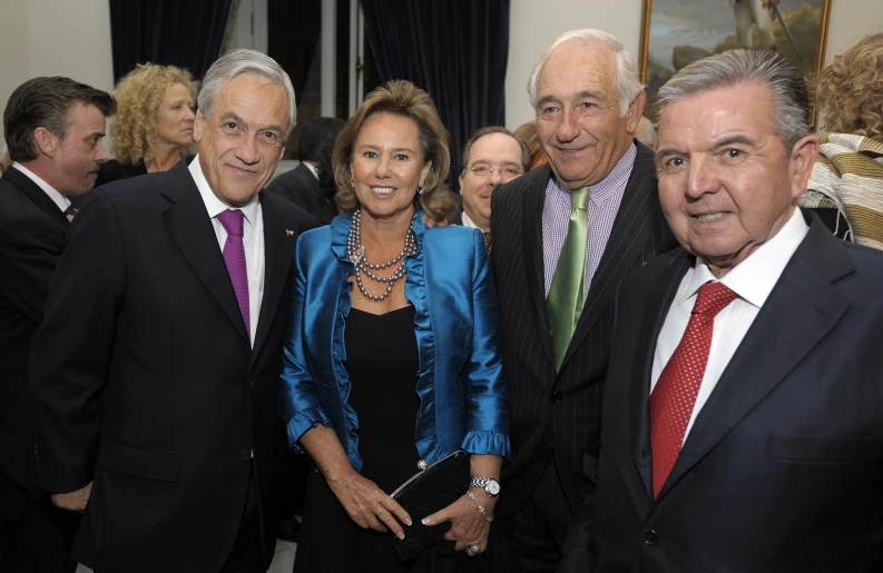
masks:
{"type": "Polygon", "coordinates": [[[862,38],[815,78],[825,129],[883,142],[883,31],[862,38]]]}

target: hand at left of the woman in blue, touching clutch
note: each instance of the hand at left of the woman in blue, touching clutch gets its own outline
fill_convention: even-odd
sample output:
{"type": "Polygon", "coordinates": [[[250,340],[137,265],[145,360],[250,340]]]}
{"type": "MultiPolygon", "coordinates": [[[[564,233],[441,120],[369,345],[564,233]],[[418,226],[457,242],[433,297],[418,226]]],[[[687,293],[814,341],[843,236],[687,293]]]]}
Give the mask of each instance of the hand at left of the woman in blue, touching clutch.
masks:
{"type": "Polygon", "coordinates": [[[400,540],[404,539],[404,531],[399,522],[411,525],[411,516],[392,496],[377,487],[377,484],[354,471],[339,480],[328,480],[327,483],[350,518],[360,527],[371,527],[380,532],[385,532],[389,527],[400,540]]]}

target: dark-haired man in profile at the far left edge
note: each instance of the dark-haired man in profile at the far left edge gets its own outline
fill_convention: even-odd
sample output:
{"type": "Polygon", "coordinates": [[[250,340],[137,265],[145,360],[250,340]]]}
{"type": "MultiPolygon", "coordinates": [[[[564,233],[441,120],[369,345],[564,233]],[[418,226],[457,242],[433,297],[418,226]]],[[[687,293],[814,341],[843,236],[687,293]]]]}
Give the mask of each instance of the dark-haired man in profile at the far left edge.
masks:
{"type": "MultiPolygon", "coordinates": [[[[68,78],[35,78],[3,113],[14,162],[0,179],[0,571],[73,571],[79,516],[38,485],[28,354],[67,245],[70,197],[92,188],[114,98],[68,78]],[[67,215],[66,215],[67,214],[67,215]]],[[[3,150],[6,154],[6,150],[3,150]]]]}

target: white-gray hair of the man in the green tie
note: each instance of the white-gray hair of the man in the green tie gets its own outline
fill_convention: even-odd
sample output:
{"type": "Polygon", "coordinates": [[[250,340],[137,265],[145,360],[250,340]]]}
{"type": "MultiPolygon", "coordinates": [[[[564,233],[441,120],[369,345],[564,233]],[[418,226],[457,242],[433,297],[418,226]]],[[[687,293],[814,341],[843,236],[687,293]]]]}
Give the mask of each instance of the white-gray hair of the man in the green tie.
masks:
{"type": "Polygon", "coordinates": [[[635,66],[635,60],[631,59],[631,55],[616,36],[591,28],[570,30],[569,32],[562,33],[556,38],[552,45],[543,52],[539,63],[533,68],[533,72],[528,80],[530,105],[534,110],[537,109],[537,89],[540,79],[540,70],[542,70],[543,65],[546,65],[546,60],[548,60],[552,52],[561,46],[575,41],[581,41],[583,43],[597,41],[614,51],[614,56],[616,57],[616,96],[619,99],[619,117],[626,117],[629,106],[635,98],[638,97],[640,90],[644,89],[644,86],[638,79],[638,68],[635,66]]]}

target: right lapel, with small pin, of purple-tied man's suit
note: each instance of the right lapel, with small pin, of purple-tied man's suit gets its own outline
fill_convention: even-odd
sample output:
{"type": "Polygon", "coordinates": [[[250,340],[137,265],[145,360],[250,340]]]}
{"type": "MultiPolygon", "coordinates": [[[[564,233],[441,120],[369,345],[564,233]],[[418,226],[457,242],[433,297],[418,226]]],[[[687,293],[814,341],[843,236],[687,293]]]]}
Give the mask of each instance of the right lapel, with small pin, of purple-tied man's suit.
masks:
{"type": "Polygon", "coordinates": [[[261,211],[264,217],[264,297],[255,332],[255,345],[252,359],[257,356],[269,334],[269,327],[279,310],[279,298],[285,288],[296,237],[288,236],[279,209],[275,201],[279,200],[265,191],[261,191],[261,211]]]}

